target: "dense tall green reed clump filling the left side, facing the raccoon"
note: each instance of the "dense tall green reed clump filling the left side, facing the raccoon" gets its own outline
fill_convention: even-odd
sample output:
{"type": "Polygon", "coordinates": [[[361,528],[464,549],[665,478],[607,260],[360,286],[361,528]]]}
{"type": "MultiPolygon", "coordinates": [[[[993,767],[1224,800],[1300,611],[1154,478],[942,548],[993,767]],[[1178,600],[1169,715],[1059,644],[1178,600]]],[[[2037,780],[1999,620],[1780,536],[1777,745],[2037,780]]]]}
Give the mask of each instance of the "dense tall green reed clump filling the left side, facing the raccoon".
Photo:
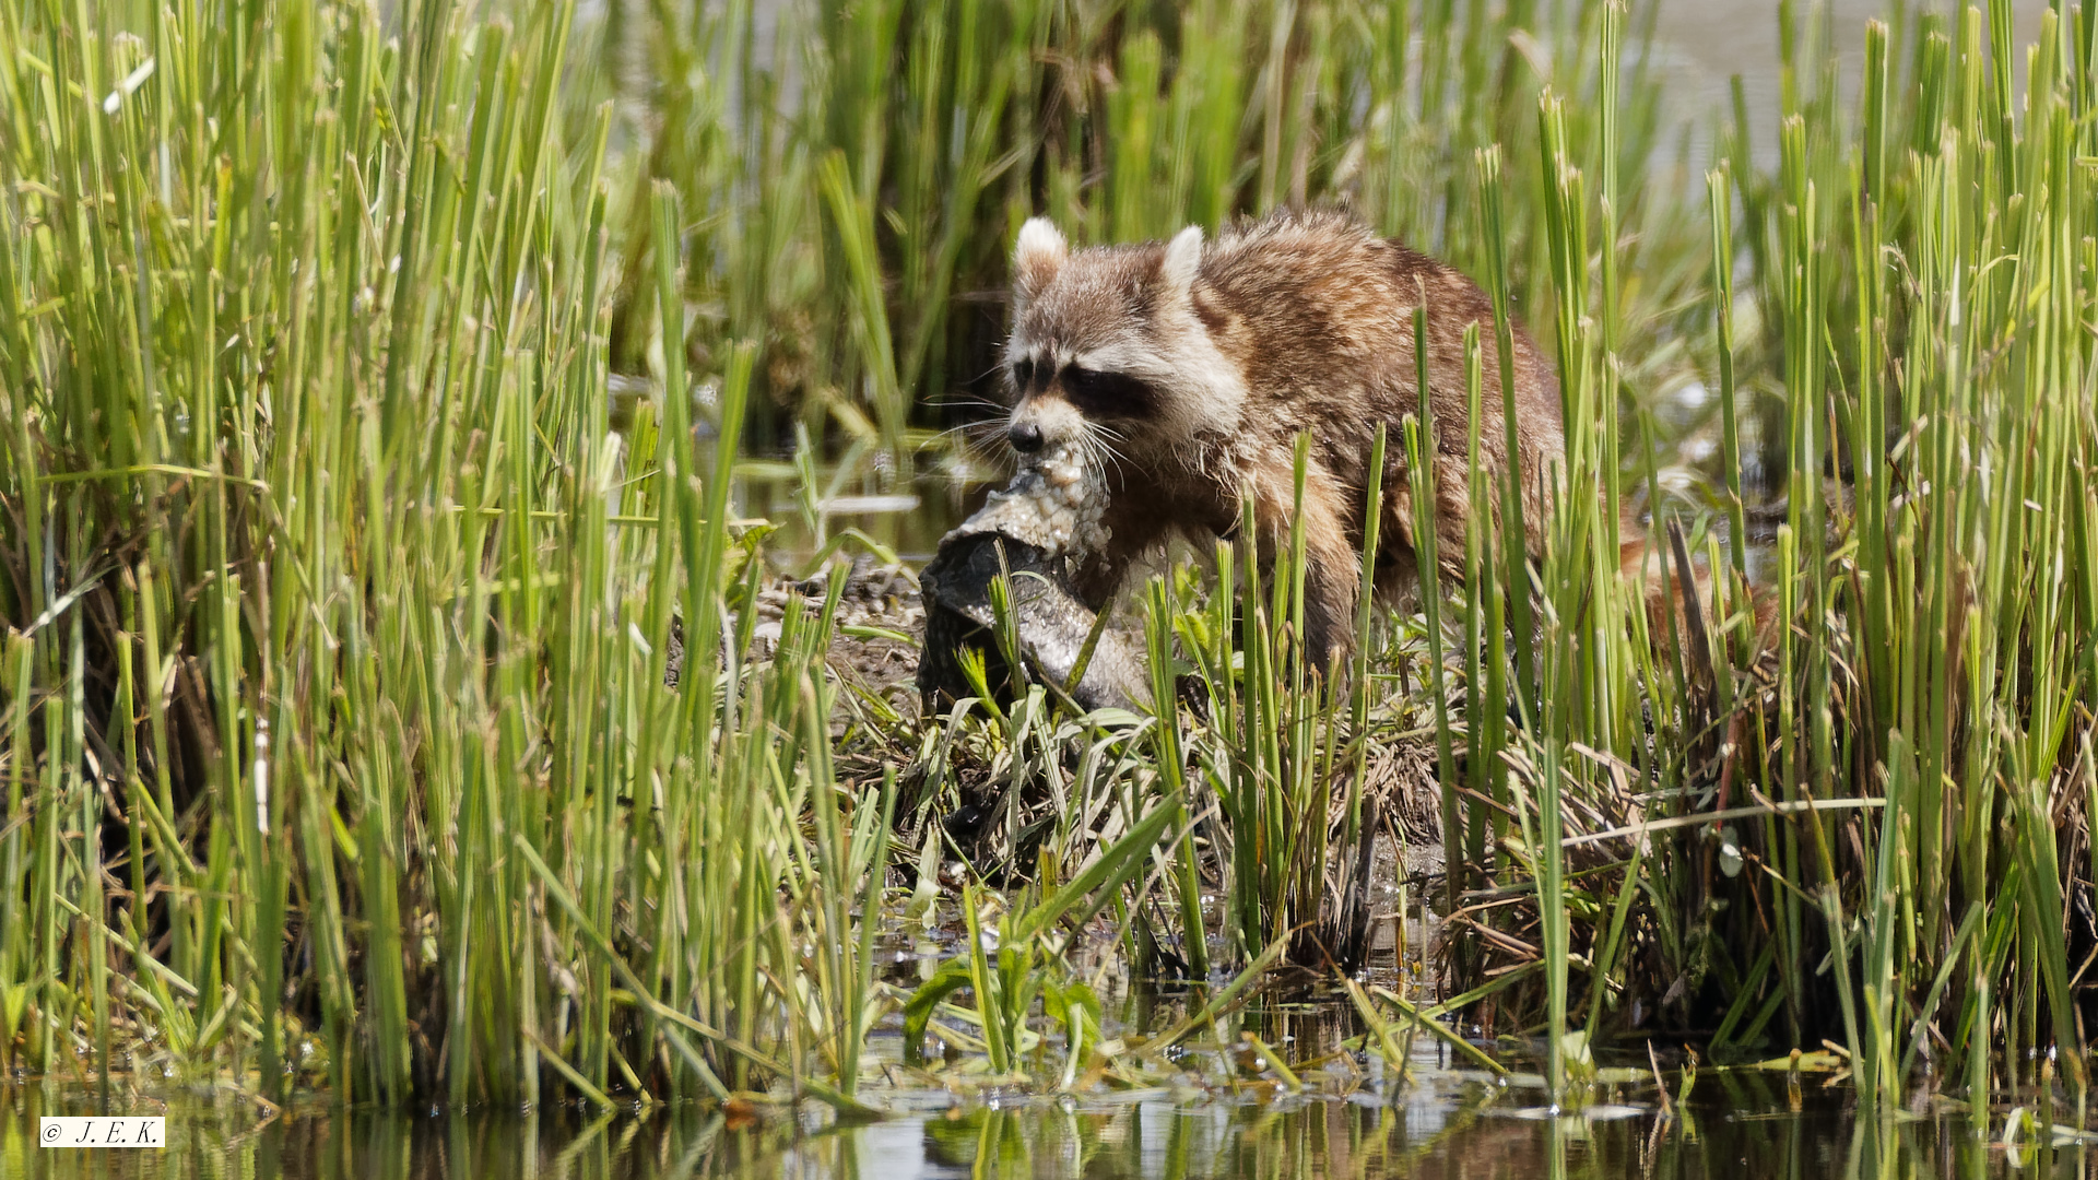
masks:
{"type": "MultiPolygon", "coordinates": [[[[718,443],[676,346],[678,397],[606,433],[573,10],[82,17],[0,21],[0,1052],[388,1104],[722,1098],[816,1054],[852,1107],[881,794],[831,773],[831,600],[759,668],[722,611],[764,573],[726,479],[751,353],[718,443]]],[[[684,212],[650,210],[678,340],[684,212]]]]}

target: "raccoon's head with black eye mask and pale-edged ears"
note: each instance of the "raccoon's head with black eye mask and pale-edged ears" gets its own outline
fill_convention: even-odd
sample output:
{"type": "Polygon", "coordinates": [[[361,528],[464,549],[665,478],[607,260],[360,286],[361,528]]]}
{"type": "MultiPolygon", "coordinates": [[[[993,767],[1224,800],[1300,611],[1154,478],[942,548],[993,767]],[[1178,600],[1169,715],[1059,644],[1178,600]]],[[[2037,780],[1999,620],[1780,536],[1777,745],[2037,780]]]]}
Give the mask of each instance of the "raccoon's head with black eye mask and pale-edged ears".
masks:
{"type": "Polygon", "coordinates": [[[1156,462],[1232,435],[1246,384],[1196,313],[1200,271],[1200,227],[1072,252],[1049,218],[1022,225],[1005,344],[1013,449],[1080,443],[1156,462]]]}

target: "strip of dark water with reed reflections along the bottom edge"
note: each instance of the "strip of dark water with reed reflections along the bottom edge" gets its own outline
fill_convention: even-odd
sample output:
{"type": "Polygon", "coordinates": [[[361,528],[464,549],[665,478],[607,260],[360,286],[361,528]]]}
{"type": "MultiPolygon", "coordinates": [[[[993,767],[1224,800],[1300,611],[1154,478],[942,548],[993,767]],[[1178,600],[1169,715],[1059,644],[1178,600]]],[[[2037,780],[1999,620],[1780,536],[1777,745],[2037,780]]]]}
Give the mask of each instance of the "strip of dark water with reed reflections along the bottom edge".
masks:
{"type": "MultiPolygon", "coordinates": [[[[1393,1100],[1146,1092],[1106,1100],[1018,1098],[921,1109],[869,1125],[736,1121],[657,1111],[585,1117],[554,1109],[470,1115],[380,1115],[300,1107],[266,1115],[224,1094],[132,1098],[124,1113],[168,1115],[164,1153],[46,1151],[40,1113],[92,1113],[92,1094],[59,1086],[0,1088],[0,1176],[170,1176],[545,1180],[783,1176],[915,1180],[1026,1176],[1085,1180],[1229,1178],[1601,1178],[1779,1180],[1840,1176],[2094,1176],[2081,1144],[2006,1149],[1962,1113],[1878,1121],[1840,1090],[1783,1075],[1712,1073],[1693,1100],[1664,1113],[1647,1083],[1599,1092],[1584,1113],[1542,1119],[1540,1092],[1437,1073],[1393,1100]]],[[[923,1107],[942,1094],[919,1094],[923,1107]]],[[[2001,1128],[2001,1113],[1991,1119],[2001,1128]]],[[[2029,1136],[2027,1136],[2029,1138],[2029,1136]]]]}

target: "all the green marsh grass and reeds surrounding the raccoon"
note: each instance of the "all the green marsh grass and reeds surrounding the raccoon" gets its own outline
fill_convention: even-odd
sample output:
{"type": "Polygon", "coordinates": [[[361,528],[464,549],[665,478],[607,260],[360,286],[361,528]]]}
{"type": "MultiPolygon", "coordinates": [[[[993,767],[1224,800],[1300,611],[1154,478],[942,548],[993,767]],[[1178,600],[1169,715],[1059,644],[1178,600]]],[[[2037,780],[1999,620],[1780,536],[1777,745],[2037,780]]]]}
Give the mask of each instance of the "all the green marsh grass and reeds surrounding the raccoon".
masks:
{"type": "MultiPolygon", "coordinates": [[[[0,13],[8,1065],[854,1117],[904,1020],[1093,1083],[1282,957],[1360,964],[1416,789],[1443,991],[1555,1094],[1609,1041],[1827,1039],[1865,1102],[2081,1117],[2090,8],[2022,52],[2001,0],[1897,10],[1853,103],[1783,4],[1779,164],[1737,111],[1704,185],[1615,4],[755,17],[0,13]],[[1559,496],[1471,464],[1502,527],[1425,617],[1307,668],[1301,538],[1221,546],[1122,607],[1158,716],[923,720],[827,663],[841,569],[759,619],[753,451],[808,441],[806,506],[816,449],[827,496],[982,468],[942,428],[1020,218],[1311,199],[1477,275],[1563,380],[1559,496]],[[967,932],[913,991],[898,907],[967,932]],[[1093,930],[1213,991],[1106,1039],[1093,930]]],[[[1477,445],[1511,342],[1469,349],[1477,445]]],[[[1416,999],[1353,993],[1357,1052],[1416,999]]]]}

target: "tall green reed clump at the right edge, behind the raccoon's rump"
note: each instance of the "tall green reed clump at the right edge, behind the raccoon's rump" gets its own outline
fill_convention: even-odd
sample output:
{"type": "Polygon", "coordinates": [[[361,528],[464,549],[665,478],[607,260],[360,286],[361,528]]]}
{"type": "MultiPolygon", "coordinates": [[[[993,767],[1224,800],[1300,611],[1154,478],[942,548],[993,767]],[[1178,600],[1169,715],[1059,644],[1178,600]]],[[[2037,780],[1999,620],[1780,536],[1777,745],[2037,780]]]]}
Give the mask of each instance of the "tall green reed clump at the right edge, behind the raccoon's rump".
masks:
{"type": "Polygon", "coordinates": [[[2083,1083],[2090,29],[2088,13],[2050,13],[2018,61],[2001,6],[1987,23],[1978,8],[1920,17],[1905,42],[1874,25],[1857,118],[1832,69],[1802,82],[1817,61],[1787,59],[1777,172],[1735,151],[1712,174],[1716,275],[1699,302],[1722,344],[1733,538],[1727,563],[1710,546],[1710,569],[1731,571],[1710,590],[1712,651],[1649,647],[1699,628],[1649,617],[1615,571],[1632,538],[1618,525],[1613,183],[1594,241],[1586,174],[1563,166],[1565,107],[1544,105],[1567,489],[1542,567],[1540,724],[1513,741],[1511,781],[1534,794],[1517,810],[1536,855],[1517,861],[1542,890],[1529,930],[1555,1052],[1574,991],[1594,1037],[1626,1010],[1622,989],[1664,995],[1668,1023],[1718,1014],[1720,1052],[1840,1035],[1871,1096],[1899,1094],[1922,1060],[1987,1094],[1993,1060],[2031,1081],[2018,1062],[2050,1046],[2083,1083]],[[1754,346],[1737,338],[1741,281],[1754,346]],[[1785,439],[1777,556],[1754,590],[1775,611],[1767,640],[1733,468],[1743,367],[1785,439]],[[1590,840],[1567,829],[1578,813],[1632,831],[1590,840]],[[1622,852],[1574,886],[1574,844],[1622,852]]]}

